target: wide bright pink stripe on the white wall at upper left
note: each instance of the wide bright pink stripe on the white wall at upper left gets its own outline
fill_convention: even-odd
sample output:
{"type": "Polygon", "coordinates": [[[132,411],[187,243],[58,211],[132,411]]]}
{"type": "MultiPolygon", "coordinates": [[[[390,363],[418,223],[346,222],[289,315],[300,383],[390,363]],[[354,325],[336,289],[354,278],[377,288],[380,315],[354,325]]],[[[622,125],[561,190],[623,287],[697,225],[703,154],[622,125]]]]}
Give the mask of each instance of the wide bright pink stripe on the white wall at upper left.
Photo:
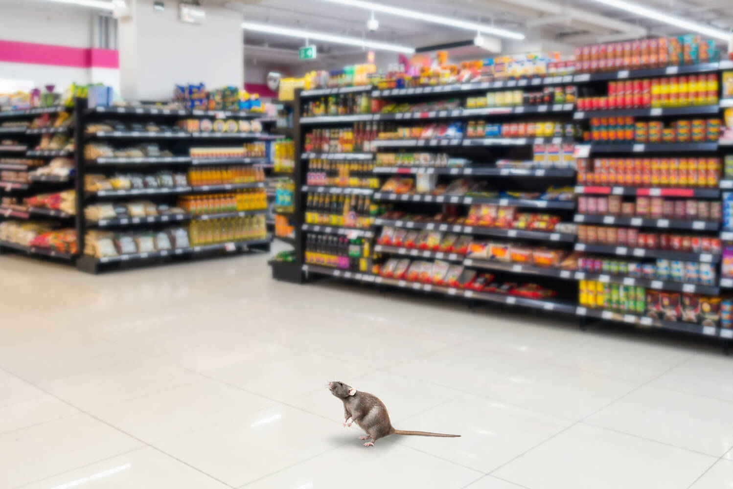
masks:
{"type": "Polygon", "coordinates": [[[114,49],[71,48],[36,42],[0,40],[0,61],[77,68],[119,68],[119,53],[114,49]]]}

